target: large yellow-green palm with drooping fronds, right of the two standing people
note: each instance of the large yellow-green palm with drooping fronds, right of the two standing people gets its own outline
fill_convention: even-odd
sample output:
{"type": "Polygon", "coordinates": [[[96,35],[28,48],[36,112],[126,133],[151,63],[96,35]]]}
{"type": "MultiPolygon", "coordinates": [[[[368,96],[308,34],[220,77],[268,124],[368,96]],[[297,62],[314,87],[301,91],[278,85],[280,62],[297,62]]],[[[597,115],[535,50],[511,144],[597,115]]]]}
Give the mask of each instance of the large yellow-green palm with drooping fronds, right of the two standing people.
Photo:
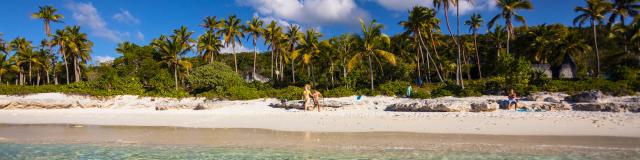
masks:
{"type": "Polygon", "coordinates": [[[360,28],[362,29],[362,37],[357,39],[359,43],[358,52],[349,60],[348,68],[351,70],[357,63],[362,61],[364,56],[367,56],[369,62],[369,77],[371,78],[371,90],[373,91],[373,62],[372,56],[379,56],[386,59],[392,65],[396,64],[396,56],[393,53],[384,51],[381,48],[385,45],[389,45],[390,39],[388,36],[382,34],[382,24],[376,23],[372,20],[367,26],[364,20],[360,19],[360,28]]]}

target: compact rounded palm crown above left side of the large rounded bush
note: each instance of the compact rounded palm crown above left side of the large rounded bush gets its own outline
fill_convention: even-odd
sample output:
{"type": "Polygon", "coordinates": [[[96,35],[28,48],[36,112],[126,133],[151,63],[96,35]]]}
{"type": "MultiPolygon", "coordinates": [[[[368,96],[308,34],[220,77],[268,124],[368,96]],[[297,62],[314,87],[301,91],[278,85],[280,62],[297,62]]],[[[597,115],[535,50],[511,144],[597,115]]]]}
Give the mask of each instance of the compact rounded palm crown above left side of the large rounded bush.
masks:
{"type": "Polygon", "coordinates": [[[214,57],[220,54],[220,49],[223,47],[220,37],[216,36],[213,30],[207,30],[207,32],[198,37],[196,48],[203,59],[213,63],[214,57]]]}

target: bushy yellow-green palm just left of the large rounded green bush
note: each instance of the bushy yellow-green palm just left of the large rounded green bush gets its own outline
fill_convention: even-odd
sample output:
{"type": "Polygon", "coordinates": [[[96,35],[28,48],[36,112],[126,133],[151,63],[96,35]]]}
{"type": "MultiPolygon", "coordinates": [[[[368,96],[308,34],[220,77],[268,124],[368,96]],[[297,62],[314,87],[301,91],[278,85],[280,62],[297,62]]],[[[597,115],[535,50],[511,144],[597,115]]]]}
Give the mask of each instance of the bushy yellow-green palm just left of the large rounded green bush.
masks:
{"type": "Polygon", "coordinates": [[[173,30],[173,35],[169,37],[160,35],[158,39],[154,39],[151,42],[151,46],[162,54],[163,63],[169,67],[173,67],[176,90],[178,90],[178,66],[186,64],[180,57],[188,51],[191,51],[192,47],[190,43],[194,42],[194,40],[191,39],[191,34],[193,34],[193,32],[188,32],[187,27],[182,26],[180,29],[173,30]]]}

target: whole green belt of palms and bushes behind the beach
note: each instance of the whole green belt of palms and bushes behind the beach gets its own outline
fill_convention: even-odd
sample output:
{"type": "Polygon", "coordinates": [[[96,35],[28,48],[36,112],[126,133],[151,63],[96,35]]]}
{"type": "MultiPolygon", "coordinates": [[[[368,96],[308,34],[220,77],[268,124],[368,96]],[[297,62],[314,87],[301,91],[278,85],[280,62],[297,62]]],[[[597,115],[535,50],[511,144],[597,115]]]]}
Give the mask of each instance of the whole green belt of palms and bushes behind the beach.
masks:
{"type": "Polygon", "coordinates": [[[529,0],[497,0],[501,12],[486,24],[479,14],[462,20],[470,34],[450,29],[443,11],[458,7],[450,2],[455,1],[435,0],[442,10],[414,7],[407,19],[398,20],[404,32],[390,36],[375,20],[361,20],[358,33],[323,37],[313,28],[302,31],[299,25],[283,27],[257,17],[243,23],[236,16],[209,16],[201,25],[204,33],[181,27],[149,44],[123,42],[115,49],[120,57],[100,64],[87,64],[93,43],[78,26],[50,31],[64,16],[43,6],[32,15],[44,22],[42,43],[0,37],[0,94],[299,99],[305,84],[327,97],[404,96],[407,85],[413,86],[413,98],[508,89],[521,94],[640,91],[638,1],[587,0],[575,8],[575,26],[527,26],[518,12],[533,8],[529,0]],[[483,25],[491,30],[482,33],[483,25]],[[245,38],[253,52],[220,52],[223,43],[241,45],[245,38]],[[269,50],[258,53],[258,43],[269,50]],[[268,82],[245,81],[262,77],[268,82]]]}

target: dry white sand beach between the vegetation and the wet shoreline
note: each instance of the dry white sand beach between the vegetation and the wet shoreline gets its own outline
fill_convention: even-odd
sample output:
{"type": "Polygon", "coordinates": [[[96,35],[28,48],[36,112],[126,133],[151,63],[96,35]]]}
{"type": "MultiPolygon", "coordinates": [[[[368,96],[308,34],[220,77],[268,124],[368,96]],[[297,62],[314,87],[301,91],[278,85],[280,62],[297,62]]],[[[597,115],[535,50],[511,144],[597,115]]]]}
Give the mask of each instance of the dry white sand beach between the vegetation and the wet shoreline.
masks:
{"type": "MultiPolygon", "coordinates": [[[[350,97],[334,100],[349,101],[350,97]]],[[[272,108],[275,99],[217,101],[208,110],[153,107],[3,109],[4,124],[86,124],[260,128],[312,132],[420,132],[489,135],[640,137],[640,114],[612,112],[388,112],[399,98],[366,97],[358,105],[323,112],[272,108]]]]}

